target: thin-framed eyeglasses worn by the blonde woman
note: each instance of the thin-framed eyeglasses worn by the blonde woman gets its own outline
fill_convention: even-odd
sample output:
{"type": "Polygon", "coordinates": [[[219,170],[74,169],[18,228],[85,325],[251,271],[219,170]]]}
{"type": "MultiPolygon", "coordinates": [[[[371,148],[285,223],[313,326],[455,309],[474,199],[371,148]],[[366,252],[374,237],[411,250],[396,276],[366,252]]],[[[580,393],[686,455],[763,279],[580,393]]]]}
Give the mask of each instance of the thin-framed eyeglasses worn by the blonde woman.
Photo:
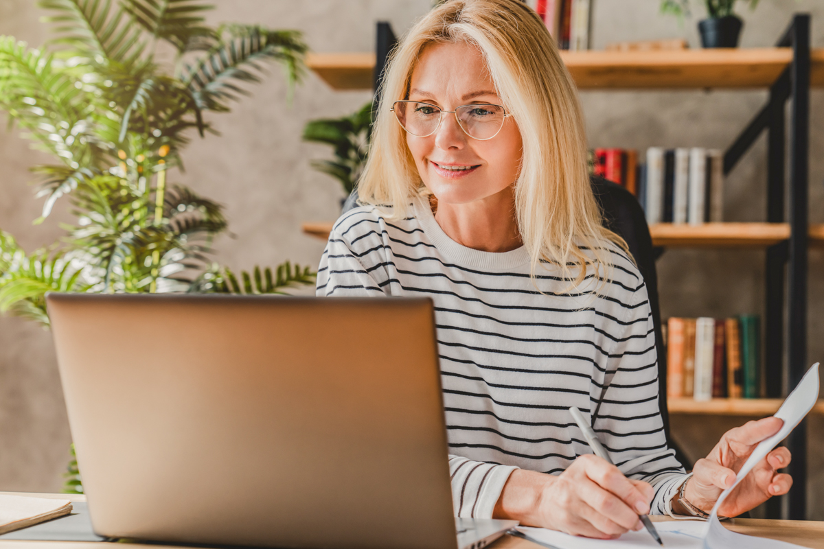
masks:
{"type": "Polygon", "coordinates": [[[437,105],[418,101],[396,101],[390,109],[400,127],[415,137],[429,137],[438,131],[443,114],[454,113],[461,129],[473,139],[492,139],[512,114],[501,105],[461,105],[455,110],[443,110],[437,105]]]}

